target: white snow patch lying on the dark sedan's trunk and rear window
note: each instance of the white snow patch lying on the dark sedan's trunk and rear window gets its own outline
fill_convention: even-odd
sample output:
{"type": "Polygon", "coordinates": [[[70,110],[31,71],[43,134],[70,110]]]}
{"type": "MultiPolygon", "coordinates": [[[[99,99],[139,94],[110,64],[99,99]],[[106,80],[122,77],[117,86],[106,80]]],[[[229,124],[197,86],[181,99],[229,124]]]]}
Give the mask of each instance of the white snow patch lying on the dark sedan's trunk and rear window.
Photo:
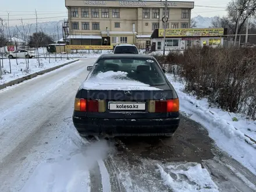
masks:
{"type": "Polygon", "coordinates": [[[126,72],[108,71],[98,73],[97,76],[89,76],[80,88],[90,90],[160,90],[150,87],[148,84],[131,80],[126,72]]]}

